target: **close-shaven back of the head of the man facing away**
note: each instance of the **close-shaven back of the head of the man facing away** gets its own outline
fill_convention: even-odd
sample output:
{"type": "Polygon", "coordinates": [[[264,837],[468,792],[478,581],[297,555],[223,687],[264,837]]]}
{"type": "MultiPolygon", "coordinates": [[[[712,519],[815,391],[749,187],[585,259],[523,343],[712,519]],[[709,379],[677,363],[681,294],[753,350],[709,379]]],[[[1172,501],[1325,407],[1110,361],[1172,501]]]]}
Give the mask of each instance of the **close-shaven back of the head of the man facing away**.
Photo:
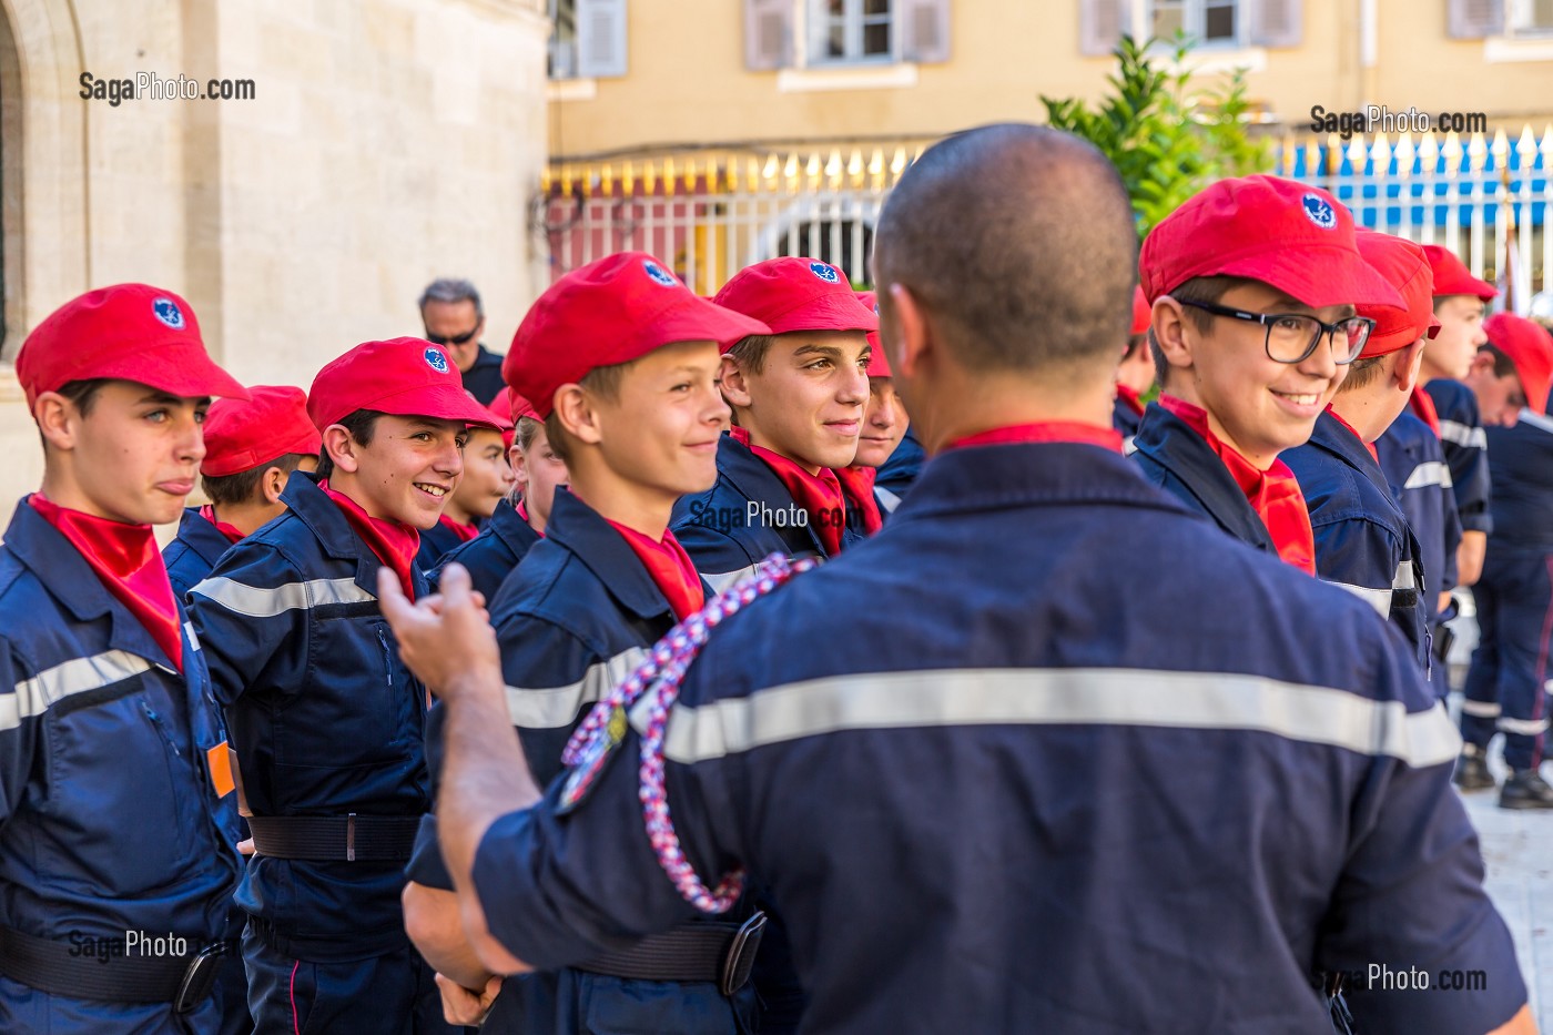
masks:
{"type": "Polygon", "coordinates": [[[874,283],[910,289],[972,371],[1115,364],[1138,238],[1121,177],[1090,143],[1009,123],[922,154],[879,218],[874,283]]]}

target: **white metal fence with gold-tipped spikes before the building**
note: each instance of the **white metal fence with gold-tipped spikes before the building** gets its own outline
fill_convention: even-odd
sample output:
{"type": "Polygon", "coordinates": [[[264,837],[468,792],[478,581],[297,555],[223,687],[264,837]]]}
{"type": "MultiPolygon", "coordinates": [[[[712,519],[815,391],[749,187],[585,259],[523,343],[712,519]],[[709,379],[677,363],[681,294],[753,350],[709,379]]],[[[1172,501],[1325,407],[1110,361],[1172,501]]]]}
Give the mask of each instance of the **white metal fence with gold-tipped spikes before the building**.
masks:
{"type": "MultiPolygon", "coordinates": [[[[697,154],[562,163],[534,202],[551,277],[620,250],[671,263],[700,294],[776,255],[808,255],[867,281],[873,228],[926,141],[843,154],[697,154]]],[[[1553,127],[1284,138],[1273,168],[1332,191],[1359,224],[1443,244],[1478,277],[1514,280],[1516,308],[1553,288],[1553,127]],[[1508,263],[1506,263],[1508,256],[1508,263]]]]}

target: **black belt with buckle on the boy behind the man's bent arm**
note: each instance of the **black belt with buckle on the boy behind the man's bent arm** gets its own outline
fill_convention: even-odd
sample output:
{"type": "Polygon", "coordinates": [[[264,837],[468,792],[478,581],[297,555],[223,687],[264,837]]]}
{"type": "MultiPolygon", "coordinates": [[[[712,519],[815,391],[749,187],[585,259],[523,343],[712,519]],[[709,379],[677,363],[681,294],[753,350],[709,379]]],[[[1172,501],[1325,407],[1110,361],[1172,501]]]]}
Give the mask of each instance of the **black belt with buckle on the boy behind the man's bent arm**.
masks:
{"type": "Polygon", "coordinates": [[[766,914],[739,923],[686,923],[627,950],[601,953],[576,970],[635,981],[714,981],[731,996],[750,979],[766,914]]]}

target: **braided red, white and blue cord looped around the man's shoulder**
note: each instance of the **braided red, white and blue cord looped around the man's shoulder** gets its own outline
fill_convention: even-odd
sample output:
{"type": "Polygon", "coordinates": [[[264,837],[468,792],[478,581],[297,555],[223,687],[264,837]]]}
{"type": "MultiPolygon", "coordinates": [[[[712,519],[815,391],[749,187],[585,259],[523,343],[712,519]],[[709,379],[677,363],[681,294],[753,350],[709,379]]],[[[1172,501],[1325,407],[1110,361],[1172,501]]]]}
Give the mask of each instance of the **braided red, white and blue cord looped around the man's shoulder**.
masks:
{"type": "Polygon", "coordinates": [[[679,699],[685,670],[700,653],[711,629],[736,614],[758,597],[786,583],[800,572],[818,566],[815,558],[789,561],[772,553],[755,566],[755,570],[722,591],[711,603],[688,615],[658,640],[648,660],[631,678],[593,706],[578,726],[561,761],[572,768],[567,786],[562,788],[562,803],[575,805],[598,775],[604,760],[620,746],[626,735],[626,713],[644,695],[651,695],[646,709],[646,729],[641,734],[641,816],[648,825],[648,839],[658,856],[658,866],[674,881],[674,887],[688,903],[702,912],[725,912],[744,890],[744,870],[725,873],[714,889],[708,889],[696,875],[696,869],[680,849],[674,821],[669,817],[668,794],[663,788],[663,732],[669,712],[679,699]]]}

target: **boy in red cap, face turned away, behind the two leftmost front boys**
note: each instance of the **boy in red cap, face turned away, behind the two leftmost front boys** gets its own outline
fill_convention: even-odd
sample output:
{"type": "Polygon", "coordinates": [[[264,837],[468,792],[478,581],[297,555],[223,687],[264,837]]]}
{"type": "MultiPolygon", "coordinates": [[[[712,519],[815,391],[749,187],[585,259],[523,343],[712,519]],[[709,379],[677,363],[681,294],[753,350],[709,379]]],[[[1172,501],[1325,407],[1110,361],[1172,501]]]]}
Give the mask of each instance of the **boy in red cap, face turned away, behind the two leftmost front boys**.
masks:
{"type": "Polygon", "coordinates": [[[183,511],[179,535],[162,552],[179,600],[227,547],[286,513],[281,491],[292,471],[318,466],[323,440],[307,416],[307,393],[259,384],[248,395],[217,399],[205,415],[199,472],[210,502],[183,511]]]}

